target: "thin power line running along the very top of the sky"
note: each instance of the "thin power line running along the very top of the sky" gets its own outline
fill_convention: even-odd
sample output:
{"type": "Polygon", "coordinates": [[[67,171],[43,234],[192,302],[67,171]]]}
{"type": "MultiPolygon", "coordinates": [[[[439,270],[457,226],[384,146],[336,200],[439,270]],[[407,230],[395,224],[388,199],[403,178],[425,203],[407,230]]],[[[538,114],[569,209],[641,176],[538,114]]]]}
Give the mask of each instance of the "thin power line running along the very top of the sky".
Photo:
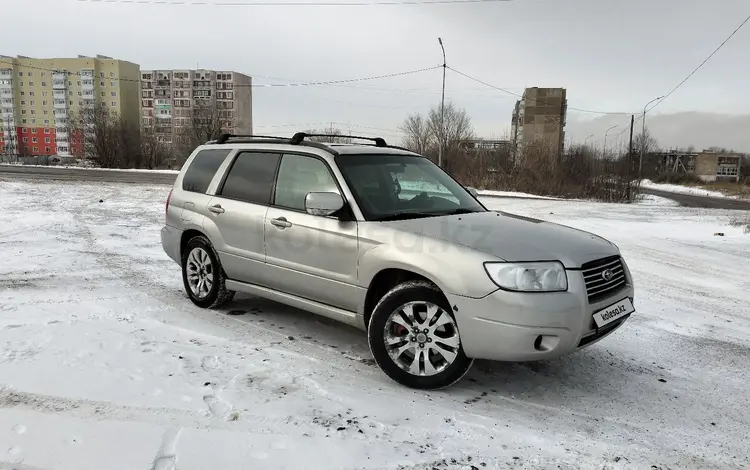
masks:
{"type": "Polygon", "coordinates": [[[336,1],[205,1],[205,0],[77,0],[79,3],[123,3],[130,5],[162,6],[214,6],[214,7],[360,7],[360,6],[401,6],[401,5],[455,5],[511,2],[513,0],[370,0],[352,2],[336,1]]]}

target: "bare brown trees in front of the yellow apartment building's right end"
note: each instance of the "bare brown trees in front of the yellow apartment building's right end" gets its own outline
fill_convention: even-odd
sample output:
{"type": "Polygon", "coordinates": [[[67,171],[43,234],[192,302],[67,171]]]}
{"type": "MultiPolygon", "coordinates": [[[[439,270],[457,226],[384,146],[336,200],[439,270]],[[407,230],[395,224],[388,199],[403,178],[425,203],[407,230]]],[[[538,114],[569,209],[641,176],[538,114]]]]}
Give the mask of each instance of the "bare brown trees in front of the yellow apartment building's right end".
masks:
{"type": "Polygon", "coordinates": [[[83,141],[83,156],[102,168],[140,168],[140,130],[104,106],[84,107],[71,118],[71,135],[83,141]]]}

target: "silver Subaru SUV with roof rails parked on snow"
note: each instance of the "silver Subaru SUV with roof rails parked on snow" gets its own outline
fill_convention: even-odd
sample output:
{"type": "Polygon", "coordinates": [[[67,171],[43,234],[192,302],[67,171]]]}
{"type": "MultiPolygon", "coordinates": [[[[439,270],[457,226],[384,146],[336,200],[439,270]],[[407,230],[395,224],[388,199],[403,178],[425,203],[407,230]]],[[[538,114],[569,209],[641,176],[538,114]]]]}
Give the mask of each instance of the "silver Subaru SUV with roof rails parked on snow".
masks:
{"type": "Polygon", "coordinates": [[[367,331],[409,387],[458,381],[474,359],[549,359],[634,312],[617,246],[490,211],[429,159],[383,139],[223,135],[180,171],[161,232],[190,300],[235,292],[367,331]]]}

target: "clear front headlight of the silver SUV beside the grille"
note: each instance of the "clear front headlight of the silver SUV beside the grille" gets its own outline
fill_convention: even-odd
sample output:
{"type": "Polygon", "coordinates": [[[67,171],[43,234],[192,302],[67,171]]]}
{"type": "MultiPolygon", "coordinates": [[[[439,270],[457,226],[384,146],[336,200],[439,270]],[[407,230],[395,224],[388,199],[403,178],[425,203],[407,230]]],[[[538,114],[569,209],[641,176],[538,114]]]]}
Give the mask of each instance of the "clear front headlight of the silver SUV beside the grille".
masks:
{"type": "Polygon", "coordinates": [[[568,290],[565,266],[559,261],[534,263],[484,263],[492,282],[519,292],[562,292],[568,290]]]}

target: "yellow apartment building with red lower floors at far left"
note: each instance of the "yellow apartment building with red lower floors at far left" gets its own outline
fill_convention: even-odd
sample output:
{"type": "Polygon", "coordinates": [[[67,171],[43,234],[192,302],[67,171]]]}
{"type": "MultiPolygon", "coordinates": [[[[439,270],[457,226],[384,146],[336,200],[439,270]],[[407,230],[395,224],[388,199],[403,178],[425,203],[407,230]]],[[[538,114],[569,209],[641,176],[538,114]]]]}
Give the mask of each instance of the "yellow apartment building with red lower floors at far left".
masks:
{"type": "Polygon", "coordinates": [[[111,57],[0,56],[0,153],[83,156],[71,118],[94,106],[138,122],[140,67],[111,57]]]}

